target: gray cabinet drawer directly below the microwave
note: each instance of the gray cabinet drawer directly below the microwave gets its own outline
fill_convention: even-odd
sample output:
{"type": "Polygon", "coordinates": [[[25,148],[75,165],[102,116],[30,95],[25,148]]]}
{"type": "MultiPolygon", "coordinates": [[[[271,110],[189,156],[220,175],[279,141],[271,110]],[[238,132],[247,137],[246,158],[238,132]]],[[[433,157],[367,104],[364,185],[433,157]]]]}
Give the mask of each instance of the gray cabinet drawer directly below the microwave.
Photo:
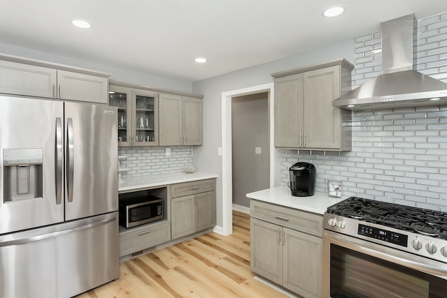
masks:
{"type": "Polygon", "coordinates": [[[119,233],[119,256],[170,241],[170,223],[152,224],[119,233]]]}

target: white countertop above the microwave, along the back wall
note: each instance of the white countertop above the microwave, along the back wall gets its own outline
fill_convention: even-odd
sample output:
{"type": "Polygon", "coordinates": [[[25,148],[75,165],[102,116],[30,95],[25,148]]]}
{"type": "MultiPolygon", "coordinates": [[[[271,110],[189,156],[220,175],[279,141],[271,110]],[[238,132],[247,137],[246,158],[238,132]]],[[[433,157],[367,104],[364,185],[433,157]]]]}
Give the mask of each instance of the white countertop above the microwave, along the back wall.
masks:
{"type": "Polygon", "coordinates": [[[217,178],[217,174],[196,172],[193,174],[175,173],[160,176],[143,176],[134,179],[124,179],[118,185],[118,191],[134,191],[141,188],[152,188],[168,184],[217,178]]]}

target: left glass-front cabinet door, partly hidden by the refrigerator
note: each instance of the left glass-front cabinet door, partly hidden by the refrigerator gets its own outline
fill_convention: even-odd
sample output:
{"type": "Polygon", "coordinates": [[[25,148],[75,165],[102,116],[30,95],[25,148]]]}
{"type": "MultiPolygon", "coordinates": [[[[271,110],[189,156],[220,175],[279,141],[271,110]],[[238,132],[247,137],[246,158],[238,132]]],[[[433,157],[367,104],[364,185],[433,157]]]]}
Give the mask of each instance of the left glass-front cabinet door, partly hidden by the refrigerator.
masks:
{"type": "Polygon", "coordinates": [[[118,86],[109,87],[109,105],[118,107],[118,146],[132,145],[132,95],[131,89],[118,86]]]}

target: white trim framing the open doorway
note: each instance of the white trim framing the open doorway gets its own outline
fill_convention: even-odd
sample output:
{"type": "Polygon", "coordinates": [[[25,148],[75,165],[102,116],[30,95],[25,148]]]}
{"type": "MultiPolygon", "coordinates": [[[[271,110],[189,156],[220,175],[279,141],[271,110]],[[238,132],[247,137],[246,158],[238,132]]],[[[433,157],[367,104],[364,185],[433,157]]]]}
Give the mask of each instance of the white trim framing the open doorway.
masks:
{"type": "Polygon", "coordinates": [[[278,162],[273,143],[273,83],[263,84],[243,89],[226,91],[222,93],[222,230],[220,234],[229,235],[233,233],[233,182],[232,182],[232,155],[231,155],[231,98],[249,94],[268,92],[269,94],[269,117],[270,117],[270,187],[277,185],[275,179],[275,166],[278,162]]]}

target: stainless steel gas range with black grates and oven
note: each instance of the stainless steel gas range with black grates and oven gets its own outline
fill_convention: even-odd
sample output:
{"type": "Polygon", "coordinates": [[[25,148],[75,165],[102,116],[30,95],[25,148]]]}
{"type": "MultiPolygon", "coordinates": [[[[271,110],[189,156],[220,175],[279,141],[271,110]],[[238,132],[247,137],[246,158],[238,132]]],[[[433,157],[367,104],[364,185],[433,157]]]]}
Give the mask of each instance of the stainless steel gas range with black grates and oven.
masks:
{"type": "Polygon", "coordinates": [[[447,214],[360,200],[374,206],[343,201],[324,214],[323,297],[447,297],[447,214]]]}

